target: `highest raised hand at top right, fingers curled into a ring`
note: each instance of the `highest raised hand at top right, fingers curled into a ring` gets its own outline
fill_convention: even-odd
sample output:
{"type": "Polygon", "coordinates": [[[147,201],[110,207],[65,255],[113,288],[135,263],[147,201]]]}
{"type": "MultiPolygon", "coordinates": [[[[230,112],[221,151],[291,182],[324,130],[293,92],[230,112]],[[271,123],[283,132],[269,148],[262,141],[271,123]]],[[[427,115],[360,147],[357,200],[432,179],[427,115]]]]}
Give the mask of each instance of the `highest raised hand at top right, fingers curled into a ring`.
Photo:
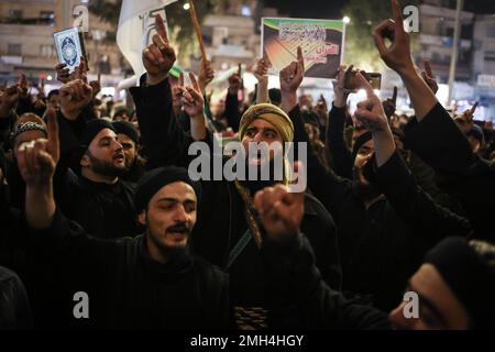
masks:
{"type": "Polygon", "coordinates": [[[380,55],[385,64],[399,75],[414,69],[415,65],[410,54],[410,37],[404,30],[403,15],[397,0],[392,0],[394,20],[383,21],[375,28],[373,37],[380,55]],[[385,38],[392,44],[387,46],[385,38]]]}

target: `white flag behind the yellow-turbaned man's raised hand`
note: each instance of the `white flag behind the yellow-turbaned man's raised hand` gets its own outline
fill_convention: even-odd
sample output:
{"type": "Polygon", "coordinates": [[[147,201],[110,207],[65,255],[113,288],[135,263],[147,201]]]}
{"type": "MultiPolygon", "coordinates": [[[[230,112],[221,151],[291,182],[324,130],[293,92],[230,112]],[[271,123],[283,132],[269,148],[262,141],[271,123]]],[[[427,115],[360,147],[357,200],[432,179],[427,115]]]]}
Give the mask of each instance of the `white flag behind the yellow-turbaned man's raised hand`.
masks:
{"type": "Polygon", "coordinates": [[[120,10],[117,45],[131,64],[135,77],[144,74],[141,59],[143,48],[152,42],[155,33],[155,16],[161,14],[166,23],[165,7],[177,0],[123,0],[120,10]]]}

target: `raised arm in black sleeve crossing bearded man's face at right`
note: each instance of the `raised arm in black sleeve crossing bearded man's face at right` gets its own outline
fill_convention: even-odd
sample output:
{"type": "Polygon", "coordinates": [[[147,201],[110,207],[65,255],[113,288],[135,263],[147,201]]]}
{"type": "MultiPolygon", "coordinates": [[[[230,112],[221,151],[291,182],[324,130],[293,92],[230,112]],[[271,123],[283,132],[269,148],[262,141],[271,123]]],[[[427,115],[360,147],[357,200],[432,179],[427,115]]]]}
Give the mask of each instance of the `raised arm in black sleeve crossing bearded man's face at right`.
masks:
{"type": "Polygon", "coordinates": [[[403,220],[431,244],[447,235],[468,237],[471,233],[469,222],[437,205],[416,185],[396,150],[380,98],[364,77],[358,75],[366,89],[367,99],[358,105],[355,118],[356,123],[366,128],[373,136],[375,156],[367,166],[375,170],[374,182],[403,220]]]}

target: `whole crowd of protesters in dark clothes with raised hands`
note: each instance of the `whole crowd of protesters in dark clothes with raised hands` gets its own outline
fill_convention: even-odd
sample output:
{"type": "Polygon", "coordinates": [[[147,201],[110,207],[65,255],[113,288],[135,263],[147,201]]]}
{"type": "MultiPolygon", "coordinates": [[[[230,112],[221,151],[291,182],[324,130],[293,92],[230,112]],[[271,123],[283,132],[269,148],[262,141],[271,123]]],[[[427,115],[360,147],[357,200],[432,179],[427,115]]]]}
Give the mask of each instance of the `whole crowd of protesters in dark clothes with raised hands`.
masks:
{"type": "Polygon", "coordinates": [[[170,76],[160,15],[134,111],[98,99],[84,61],[58,65],[62,87],[46,97],[25,76],[3,87],[0,329],[495,328],[494,131],[475,123],[476,106],[455,116],[438,102],[395,0],[392,12],[373,36],[413,117],[364,73],[346,87],[353,67],[329,84],[331,105],[298,96],[300,48],[279,89],[258,59],[254,94],[240,100],[234,74],[213,106],[210,62],[190,85],[170,76]],[[366,99],[351,116],[356,89],[366,99]],[[282,179],[197,180],[189,147],[202,142],[212,161],[215,133],[241,142],[260,174],[276,155],[250,154],[253,143],[302,142],[307,157],[289,165],[278,151],[282,179]],[[292,191],[295,172],[306,191],[292,191]],[[419,297],[413,317],[405,292],[419,297]],[[82,319],[77,293],[89,297],[82,319]]]}

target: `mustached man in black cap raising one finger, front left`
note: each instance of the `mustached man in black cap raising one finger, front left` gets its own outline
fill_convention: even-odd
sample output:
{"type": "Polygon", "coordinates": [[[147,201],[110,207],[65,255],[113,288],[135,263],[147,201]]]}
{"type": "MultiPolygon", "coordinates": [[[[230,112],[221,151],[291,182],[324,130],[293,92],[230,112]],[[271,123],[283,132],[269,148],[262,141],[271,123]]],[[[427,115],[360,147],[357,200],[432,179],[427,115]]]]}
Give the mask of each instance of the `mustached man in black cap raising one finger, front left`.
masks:
{"type": "MultiPolygon", "coordinates": [[[[91,142],[99,143],[111,132],[101,129],[91,142]]],[[[140,180],[134,204],[139,221],[146,227],[144,234],[101,240],[65,218],[53,197],[59,156],[56,119],[48,119],[47,140],[24,145],[19,153],[19,168],[26,184],[28,239],[36,248],[35,255],[50,257],[56,267],[44,274],[57,276],[61,290],[70,294],[57,302],[65,308],[69,324],[153,329],[227,326],[227,275],[189,253],[200,185],[188,177],[186,169],[156,168],[140,180]],[[86,319],[74,315],[77,301],[73,295],[77,292],[89,297],[86,319]]],[[[88,156],[82,167],[87,163],[91,163],[88,156]]]]}

